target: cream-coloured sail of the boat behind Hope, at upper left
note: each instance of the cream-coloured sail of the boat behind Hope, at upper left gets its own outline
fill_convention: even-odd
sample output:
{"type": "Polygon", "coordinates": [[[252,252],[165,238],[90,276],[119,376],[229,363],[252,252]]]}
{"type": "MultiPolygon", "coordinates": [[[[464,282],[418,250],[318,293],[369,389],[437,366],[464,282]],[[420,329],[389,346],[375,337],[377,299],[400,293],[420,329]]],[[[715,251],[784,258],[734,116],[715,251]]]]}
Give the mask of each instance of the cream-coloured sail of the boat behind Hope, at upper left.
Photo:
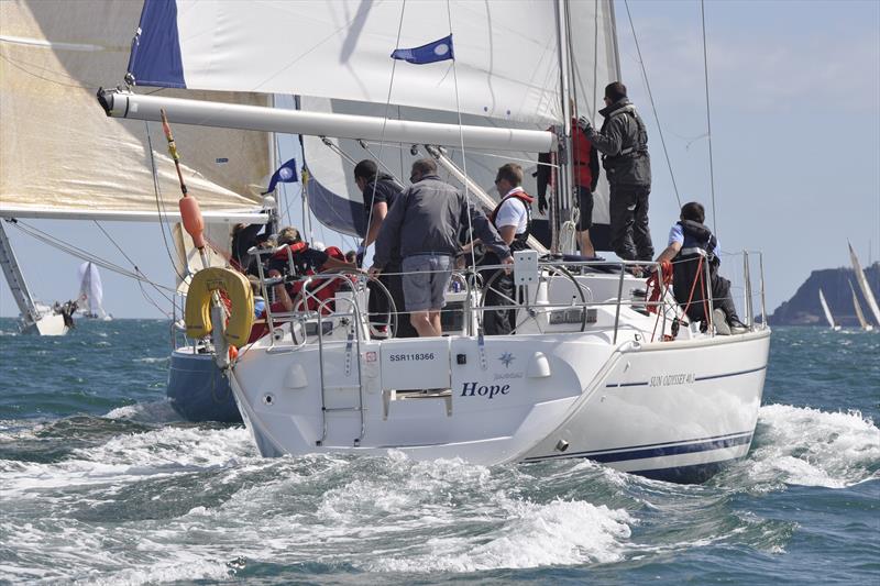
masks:
{"type": "MultiPolygon", "coordinates": [[[[107,118],[95,96],[99,86],[122,81],[141,8],[129,0],[0,2],[0,214],[88,218],[100,211],[125,219],[177,210],[180,190],[160,125],[150,125],[157,202],[146,124],[107,118]]],[[[256,106],[270,99],[222,95],[256,106]]],[[[199,126],[174,133],[184,178],[202,210],[258,210],[260,188],[272,172],[266,134],[199,126]]]]}

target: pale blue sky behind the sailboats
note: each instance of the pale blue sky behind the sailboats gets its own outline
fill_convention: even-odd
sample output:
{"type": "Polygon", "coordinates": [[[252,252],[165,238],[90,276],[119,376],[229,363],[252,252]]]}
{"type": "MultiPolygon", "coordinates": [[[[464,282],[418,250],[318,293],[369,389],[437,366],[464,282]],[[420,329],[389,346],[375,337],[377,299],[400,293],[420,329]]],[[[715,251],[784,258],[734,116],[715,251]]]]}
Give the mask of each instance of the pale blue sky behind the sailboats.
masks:
{"type": "MultiPolygon", "coordinates": [[[[725,251],[763,252],[768,311],[794,295],[812,270],[847,265],[847,240],[864,266],[880,259],[880,2],[705,3],[714,214],[700,3],[616,0],[615,10],[623,81],[648,124],[650,221],[658,253],[679,214],[674,176],[682,202],[706,206],[707,223],[714,222],[725,251]]],[[[298,209],[289,194],[292,208],[298,209]]],[[[91,222],[28,222],[130,266],[91,222]]],[[[144,274],[173,284],[157,223],[101,225],[144,274]]],[[[81,261],[14,228],[7,233],[36,298],[76,297],[81,261]]],[[[318,237],[340,244],[320,230],[318,237]]],[[[148,287],[153,301],[132,280],[107,270],[101,275],[105,307],[114,317],[164,317],[154,302],[168,311],[168,302],[148,287]]],[[[16,316],[0,280],[0,316],[16,316]]]]}

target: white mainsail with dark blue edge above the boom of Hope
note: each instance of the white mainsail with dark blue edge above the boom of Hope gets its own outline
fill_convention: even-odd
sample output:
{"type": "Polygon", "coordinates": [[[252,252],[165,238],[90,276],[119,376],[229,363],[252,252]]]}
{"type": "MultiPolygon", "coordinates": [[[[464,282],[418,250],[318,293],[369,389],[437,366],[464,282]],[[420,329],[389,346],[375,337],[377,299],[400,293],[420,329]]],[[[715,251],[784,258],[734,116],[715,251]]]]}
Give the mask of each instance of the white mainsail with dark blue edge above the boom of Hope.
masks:
{"type": "Polygon", "coordinates": [[[556,2],[146,0],[141,29],[131,62],[141,86],[561,121],[556,2]],[[454,73],[452,60],[391,59],[450,33],[454,73]]]}

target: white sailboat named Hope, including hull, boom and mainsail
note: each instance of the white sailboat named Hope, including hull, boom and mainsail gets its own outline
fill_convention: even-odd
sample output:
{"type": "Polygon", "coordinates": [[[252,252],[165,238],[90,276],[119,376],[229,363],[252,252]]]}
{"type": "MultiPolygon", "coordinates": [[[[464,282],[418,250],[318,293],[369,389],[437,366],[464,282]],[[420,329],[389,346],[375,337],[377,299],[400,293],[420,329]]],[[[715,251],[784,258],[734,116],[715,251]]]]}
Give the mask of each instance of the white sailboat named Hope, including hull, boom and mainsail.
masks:
{"type": "MultiPolygon", "coordinates": [[[[502,162],[526,152],[534,159],[568,141],[570,100],[594,118],[596,98],[618,76],[607,1],[147,2],[140,31],[139,58],[147,65],[139,70],[134,59],[139,84],[293,91],[355,110],[353,102],[366,102],[364,109],[384,113],[278,112],[113,92],[102,97],[111,115],[156,120],[165,109],[175,124],[387,143],[402,159],[413,145],[501,153],[502,162]],[[301,33],[295,43],[290,31],[301,33]],[[454,60],[406,66],[388,58],[392,49],[450,33],[454,60]],[[416,118],[397,115],[407,108],[416,118]],[[453,123],[436,122],[431,112],[453,123]],[[460,114],[472,123],[457,122],[460,114]],[[550,125],[553,132],[544,130],[550,125]]],[[[461,154],[461,169],[438,156],[453,179],[466,181],[461,154]]],[[[318,165],[306,156],[320,184],[318,165]]],[[[564,211],[571,172],[561,161],[564,211]]],[[[242,332],[224,331],[218,320],[217,360],[229,364],[261,453],[397,450],[482,464],[587,457],[646,476],[700,480],[748,452],[770,338],[754,321],[750,263],[744,263],[749,331],[733,336],[679,327],[681,311],[668,297],[658,314],[647,313],[634,292],[644,281],[625,264],[578,264],[588,273],[573,276],[570,263],[534,252],[517,253],[516,263],[524,301],[508,336],[483,334],[482,291],[466,278],[457,294],[460,327],[443,338],[374,338],[364,321],[363,277],[353,292],[337,295],[329,314],[270,314],[271,334],[237,356],[226,344],[242,332]]],[[[208,289],[200,292],[207,303],[208,289]]],[[[233,316],[243,309],[234,303],[233,316]]],[[[188,317],[194,331],[210,331],[197,322],[188,317]]]]}

